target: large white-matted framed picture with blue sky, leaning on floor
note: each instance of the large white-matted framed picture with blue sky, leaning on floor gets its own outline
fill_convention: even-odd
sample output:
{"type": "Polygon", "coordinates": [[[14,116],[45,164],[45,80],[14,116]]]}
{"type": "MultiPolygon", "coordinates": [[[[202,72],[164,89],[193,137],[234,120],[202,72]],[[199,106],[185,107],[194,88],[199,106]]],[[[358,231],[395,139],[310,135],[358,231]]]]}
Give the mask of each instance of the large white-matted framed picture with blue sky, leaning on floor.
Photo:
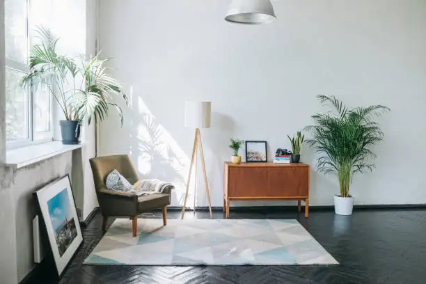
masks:
{"type": "Polygon", "coordinates": [[[61,277],[83,243],[70,176],[65,175],[33,193],[43,220],[52,256],[61,277]]]}

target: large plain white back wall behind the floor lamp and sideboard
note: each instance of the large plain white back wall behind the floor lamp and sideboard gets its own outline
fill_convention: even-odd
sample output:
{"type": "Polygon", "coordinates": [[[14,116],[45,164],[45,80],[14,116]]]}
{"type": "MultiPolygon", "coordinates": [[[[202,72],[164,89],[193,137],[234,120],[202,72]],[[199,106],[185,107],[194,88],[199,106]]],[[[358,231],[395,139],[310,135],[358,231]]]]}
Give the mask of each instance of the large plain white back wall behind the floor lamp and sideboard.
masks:
{"type": "MultiPolygon", "coordinates": [[[[262,26],[225,22],[228,3],[101,1],[100,49],[115,58],[131,107],[123,128],[115,116],[102,124],[100,154],[129,153],[141,174],[178,183],[179,205],[194,137],[184,101],[212,100],[202,136],[221,206],[229,137],[267,140],[270,154],[290,148],[286,134],[325,110],[315,95],[336,95],[351,107],[392,109],[379,119],[377,168],[352,185],[356,204],[426,203],[426,1],[274,1],[278,18],[262,26]]],[[[310,149],[301,159],[315,164],[310,149]]],[[[333,203],[335,178],[313,168],[310,184],[311,205],[333,203]]]]}

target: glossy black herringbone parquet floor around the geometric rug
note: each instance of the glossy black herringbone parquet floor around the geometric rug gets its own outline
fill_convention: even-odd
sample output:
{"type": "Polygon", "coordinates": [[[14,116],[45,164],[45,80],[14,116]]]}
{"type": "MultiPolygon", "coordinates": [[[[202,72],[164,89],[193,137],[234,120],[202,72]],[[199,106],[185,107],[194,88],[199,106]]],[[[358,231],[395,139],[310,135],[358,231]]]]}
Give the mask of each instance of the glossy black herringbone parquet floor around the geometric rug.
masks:
{"type": "MultiPolygon", "coordinates": [[[[160,213],[158,213],[160,216],[160,213]]],[[[168,218],[178,218],[169,212],[168,218]]],[[[187,212],[187,218],[194,218],[187,212]]],[[[206,212],[196,218],[205,219],[206,212]]],[[[214,218],[223,218],[214,212],[214,218]]],[[[425,284],[426,210],[360,210],[352,216],[331,211],[311,212],[305,219],[297,212],[238,210],[234,219],[298,219],[340,265],[336,266],[233,266],[233,267],[123,267],[82,265],[102,237],[97,214],[84,229],[84,244],[60,281],[52,278],[52,265],[34,274],[27,283],[318,283],[318,284],[425,284]]],[[[112,221],[112,220],[111,220],[112,221]]],[[[110,222],[111,222],[110,221],[110,222]]]]}

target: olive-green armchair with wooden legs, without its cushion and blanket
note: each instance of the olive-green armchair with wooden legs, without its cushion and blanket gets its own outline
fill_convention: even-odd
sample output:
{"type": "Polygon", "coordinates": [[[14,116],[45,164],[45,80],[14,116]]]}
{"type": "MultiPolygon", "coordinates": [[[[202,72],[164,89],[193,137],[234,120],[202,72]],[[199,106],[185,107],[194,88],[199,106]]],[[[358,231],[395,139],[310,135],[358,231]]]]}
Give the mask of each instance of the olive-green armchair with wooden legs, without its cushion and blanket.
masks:
{"type": "Polygon", "coordinates": [[[114,169],[117,169],[132,184],[139,180],[132,161],[127,155],[96,157],[90,159],[90,166],[92,167],[97,200],[104,217],[103,232],[105,232],[109,216],[130,217],[132,219],[133,237],[136,237],[137,216],[143,212],[150,212],[159,208],[163,211],[163,223],[166,226],[167,205],[170,205],[171,189],[163,194],[147,196],[137,196],[132,193],[107,189],[105,180],[114,169]]]}

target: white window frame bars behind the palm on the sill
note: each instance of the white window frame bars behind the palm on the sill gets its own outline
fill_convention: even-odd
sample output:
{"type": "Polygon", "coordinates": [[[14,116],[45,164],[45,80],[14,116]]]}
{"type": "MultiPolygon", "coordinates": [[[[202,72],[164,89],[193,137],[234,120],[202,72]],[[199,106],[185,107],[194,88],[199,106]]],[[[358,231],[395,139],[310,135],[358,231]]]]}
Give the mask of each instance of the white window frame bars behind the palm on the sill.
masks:
{"type": "MultiPolygon", "coordinates": [[[[17,1],[17,0],[15,0],[17,1]]],[[[31,35],[30,35],[30,26],[31,26],[31,1],[32,0],[21,0],[25,1],[26,6],[26,61],[29,60],[29,54],[31,49],[31,35]]],[[[23,72],[29,74],[31,71],[29,65],[26,63],[19,62],[13,58],[8,58],[5,56],[5,67],[9,70],[15,70],[17,72],[23,72]]],[[[28,145],[34,145],[39,143],[46,143],[53,141],[54,139],[54,100],[52,93],[49,93],[49,113],[50,113],[50,129],[47,132],[36,132],[36,119],[34,118],[34,108],[35,108],[35,93],[33,93],[29,88],[25,91],[26,95],[26,139],[17,139],[8,141],[6,137],[6,149],[15,149],[21,148],[28,145]]]]}

